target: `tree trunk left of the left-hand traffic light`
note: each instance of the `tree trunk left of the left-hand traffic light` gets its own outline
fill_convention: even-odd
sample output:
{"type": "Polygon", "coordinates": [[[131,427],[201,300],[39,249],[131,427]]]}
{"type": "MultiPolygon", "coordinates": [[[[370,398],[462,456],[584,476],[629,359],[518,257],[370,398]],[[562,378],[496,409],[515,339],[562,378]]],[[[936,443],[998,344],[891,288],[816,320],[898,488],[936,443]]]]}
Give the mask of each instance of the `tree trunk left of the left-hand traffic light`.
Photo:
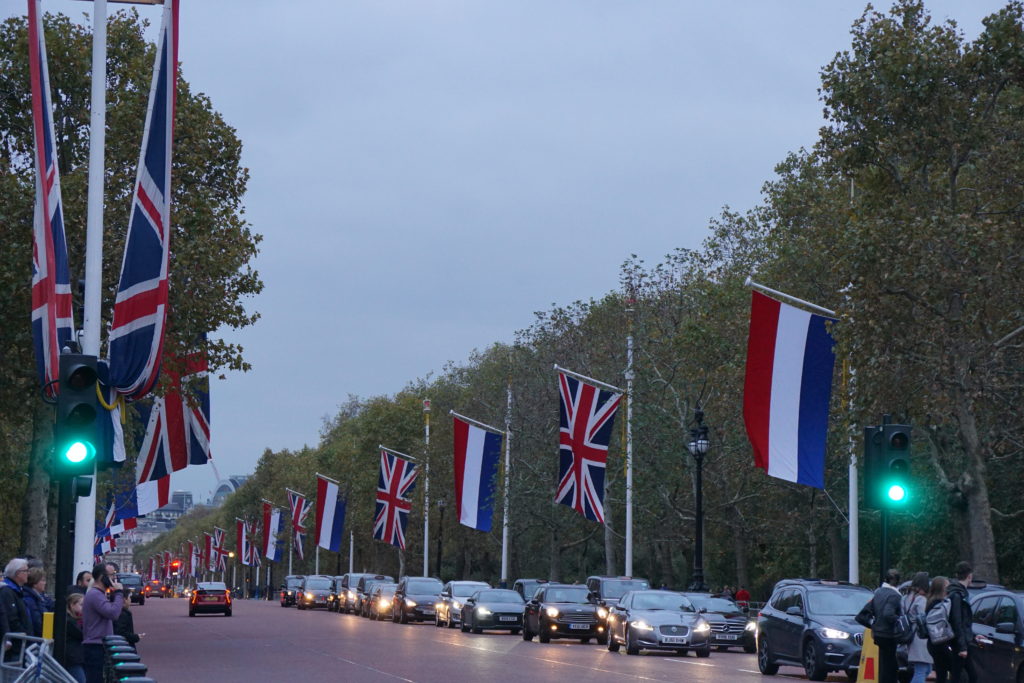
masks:
{"type": "MultiPolygon", "coordinates": [[[[48,456],[53,447],[53,409],[38,401],[32,420],[28,486],[22,500],[22,554],[46,561],[49,540],[50,476],[48,456]]],[[[58,578],[65,581],[67,577],[58,578]]],[[[69,581],[71,583],[71,581],[69,581]]]]}

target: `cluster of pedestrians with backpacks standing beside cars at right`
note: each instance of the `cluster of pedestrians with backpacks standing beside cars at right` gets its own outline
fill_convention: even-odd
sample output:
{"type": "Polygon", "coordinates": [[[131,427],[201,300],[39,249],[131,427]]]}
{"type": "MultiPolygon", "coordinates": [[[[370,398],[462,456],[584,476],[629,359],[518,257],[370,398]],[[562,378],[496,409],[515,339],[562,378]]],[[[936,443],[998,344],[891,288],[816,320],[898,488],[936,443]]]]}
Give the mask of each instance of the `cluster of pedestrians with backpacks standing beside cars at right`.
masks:
{"type": "Polygon", "coordinates": [[[969,645],[974,639],[973,614],[967,587],[974,571],[967,562],[956,565],[954,577],[929,578],[919,571],[901,593],[900,573],[889,569],[882,586],[857,615],[857,622],[871,630],[879,647],[879,683],[898,680],[897,650],[906,648],[913,672],[911,683],[925,683],[932,670],[936,683],[959,683],[966,676],[976,683],[978,675],[969,645]],[[932,613],[933,610],[939,610],[932,613]],[[934,625],[934,629],[933,629],[934,625]],[[944,635],[936,631],[946,629],[944,635]]]}

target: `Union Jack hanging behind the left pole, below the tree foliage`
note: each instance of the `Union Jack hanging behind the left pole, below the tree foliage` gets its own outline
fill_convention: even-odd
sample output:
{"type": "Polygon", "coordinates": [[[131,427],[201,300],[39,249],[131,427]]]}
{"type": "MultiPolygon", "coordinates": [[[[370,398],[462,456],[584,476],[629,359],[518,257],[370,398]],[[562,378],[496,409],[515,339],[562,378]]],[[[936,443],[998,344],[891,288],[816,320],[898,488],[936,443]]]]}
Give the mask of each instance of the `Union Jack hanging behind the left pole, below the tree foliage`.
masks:
{"type": "Polygon", "coordinates": [[[146,425],[136,465],[139,483],[210,461],[210,378],[205,353],[186,358],[184,377],[171,375],[166,395],[158,396],[152,404],[136,407],[146,425]],[[181,388],[182,381],[189,378],[191,400],[181,388]]]}

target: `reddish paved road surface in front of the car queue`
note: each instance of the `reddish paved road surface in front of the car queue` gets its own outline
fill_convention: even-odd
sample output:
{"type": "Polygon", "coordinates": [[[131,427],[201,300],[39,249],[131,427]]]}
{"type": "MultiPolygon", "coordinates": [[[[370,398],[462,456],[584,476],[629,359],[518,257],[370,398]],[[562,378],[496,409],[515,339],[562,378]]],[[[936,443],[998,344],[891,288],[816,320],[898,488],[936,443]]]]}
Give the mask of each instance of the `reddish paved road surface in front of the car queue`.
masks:
{"type": "MultiPolygon", "coordinates": [[[[602,646],[527,643],[501,633],[473,635],[431,625],[371,622],[323,610],[283,609],[275,602],[236,601],[233,615],[188,617],[183,599],[150,599],[134,607],[135,630],[150,676],[160,683],[262,681],[694,681],[716,683],[803,679],[783,668],[775,679],[758,673],[741,651],[628,656],[602,646]]],[[[845,676],[829,680],[846,681],[845,676]]]]}

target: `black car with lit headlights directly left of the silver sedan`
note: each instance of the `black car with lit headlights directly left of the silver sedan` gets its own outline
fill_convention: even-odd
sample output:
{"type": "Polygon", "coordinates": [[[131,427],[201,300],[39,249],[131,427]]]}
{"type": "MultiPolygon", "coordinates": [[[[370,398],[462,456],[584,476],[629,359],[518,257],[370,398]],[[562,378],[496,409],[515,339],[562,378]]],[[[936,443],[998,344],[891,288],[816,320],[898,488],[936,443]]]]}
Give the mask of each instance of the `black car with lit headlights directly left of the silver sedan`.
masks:
{"type": "Polygon", "coordinates": [[[590,642],[597,638],[602,645],[607,642],[607,632],[602,624],[607,610],[593,601],[586,586],[546,584],[526,601],[522,614],[522,639],[542,643],[552,638],[579,638],[590,642]]]}

